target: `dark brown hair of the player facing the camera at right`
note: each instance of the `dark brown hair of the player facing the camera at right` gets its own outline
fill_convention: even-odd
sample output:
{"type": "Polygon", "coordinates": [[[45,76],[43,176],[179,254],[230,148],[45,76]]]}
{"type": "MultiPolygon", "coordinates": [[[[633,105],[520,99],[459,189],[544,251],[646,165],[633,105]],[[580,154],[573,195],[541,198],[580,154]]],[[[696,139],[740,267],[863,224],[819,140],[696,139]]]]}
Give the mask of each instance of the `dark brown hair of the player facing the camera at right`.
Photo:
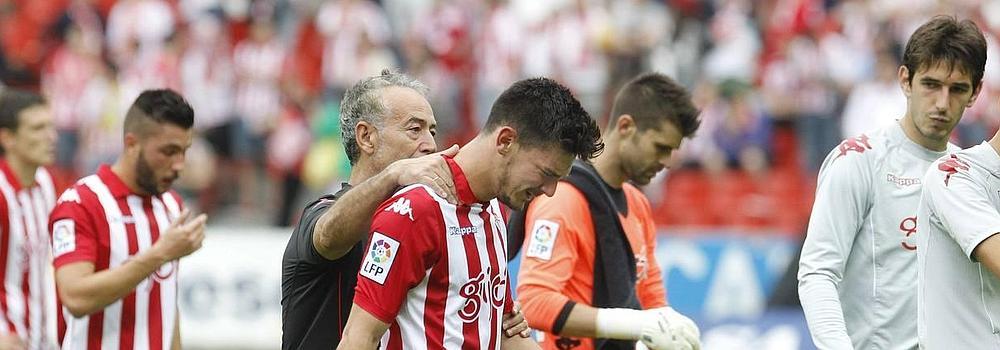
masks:
{"type": "Polygon", "coordinates": [[[910,72],[907,83],[913,83],[917,69],[938,64],[958,66],[972,78],[973,91],[979,88],[986,67],[986,38],[975,22],[939,15],[913,32],[903,50],[903,66],[910,72]]]}

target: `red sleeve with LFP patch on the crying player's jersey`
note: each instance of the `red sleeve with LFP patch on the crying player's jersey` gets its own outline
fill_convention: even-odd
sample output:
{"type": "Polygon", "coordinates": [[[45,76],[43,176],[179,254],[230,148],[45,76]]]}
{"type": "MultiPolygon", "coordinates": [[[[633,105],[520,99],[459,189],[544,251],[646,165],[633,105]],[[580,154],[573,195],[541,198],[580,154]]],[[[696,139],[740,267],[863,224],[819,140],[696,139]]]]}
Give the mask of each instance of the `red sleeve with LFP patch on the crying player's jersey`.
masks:
{"type": "Polygon", "coordinates": [[[443,231],[437,203],[423,189],[384,202],[372,219],[354,304],[392,323],[410,289],[440,258],[443,231]]]}

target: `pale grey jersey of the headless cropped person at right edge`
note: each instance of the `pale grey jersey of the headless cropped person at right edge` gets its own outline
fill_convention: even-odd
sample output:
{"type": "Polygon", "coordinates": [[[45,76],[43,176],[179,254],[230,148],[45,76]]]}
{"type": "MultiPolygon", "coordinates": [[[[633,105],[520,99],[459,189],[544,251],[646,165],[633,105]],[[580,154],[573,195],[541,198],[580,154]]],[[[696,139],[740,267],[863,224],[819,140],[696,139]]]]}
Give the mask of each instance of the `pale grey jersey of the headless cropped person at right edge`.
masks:
{"type": "Polygon", "coordinates": [[[923,349],[1000,349],[1000,279],[972,251],[1000,232],[1000,155],[988,143],[941,158],[917,216],[923,349]]]}

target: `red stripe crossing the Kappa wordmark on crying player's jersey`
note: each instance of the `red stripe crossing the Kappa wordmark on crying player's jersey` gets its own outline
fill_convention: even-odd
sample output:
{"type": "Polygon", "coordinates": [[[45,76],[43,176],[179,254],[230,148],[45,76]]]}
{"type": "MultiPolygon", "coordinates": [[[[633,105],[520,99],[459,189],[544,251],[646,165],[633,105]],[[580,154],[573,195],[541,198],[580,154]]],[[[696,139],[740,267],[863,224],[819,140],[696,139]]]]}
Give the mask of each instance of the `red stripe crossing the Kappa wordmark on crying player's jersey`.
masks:
{"type": "MultiPolygon", "coordinates": [[[[469,211],[470,208],[467,206],[458,207],[455,215],[458,216],[458,226],[460,228],[472,227],[472,222],[469,221],[469,211]]],[[[476,232],[477,230],[475,227],[472,228],[472,234],[462,235],[462,244],[465,246],[466,265],[469,268],[469,283],[477,283],[475,279],[480,276],[483,271],[482,262],[479,259],[479,249],[476,244],[476,235],[478,233],[476,232]]],[[[485,278],[487,281],[490,280],[490,276],[488,275],[485,278]]],[[[488,301],[481,298],[483,291],[479,291],[479,293],[476,293],[475,295],[461,295],[464,291],[464,286],[459,289],[459,295],[462,297],[462,299],[459,300],[465,302],[459,313],[474,315],[475,318],[472,320],[462,320],[464,321],[462,323],[462,334],[465,336],[465,345],[463,347],[480,347],[482,345],[479,341],[479,315],[483,308],[490,306],[488,301]]]]}

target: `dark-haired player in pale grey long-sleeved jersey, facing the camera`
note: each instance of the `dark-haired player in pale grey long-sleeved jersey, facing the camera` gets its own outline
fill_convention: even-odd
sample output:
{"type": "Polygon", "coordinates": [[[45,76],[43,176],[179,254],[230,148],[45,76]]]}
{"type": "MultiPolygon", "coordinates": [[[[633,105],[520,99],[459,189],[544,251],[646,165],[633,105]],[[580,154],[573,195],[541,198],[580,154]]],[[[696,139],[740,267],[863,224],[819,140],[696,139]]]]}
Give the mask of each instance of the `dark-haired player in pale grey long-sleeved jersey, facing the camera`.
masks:
{"type": "Polygon", "coordinates": [[[799,298],[821,349],[917,347],[917,204],[931,164],[980,92],[986,41],[938,16],[910,36],[899,67],[906,114],[849,138],[823,162],[799,261],[799,298]]]}

